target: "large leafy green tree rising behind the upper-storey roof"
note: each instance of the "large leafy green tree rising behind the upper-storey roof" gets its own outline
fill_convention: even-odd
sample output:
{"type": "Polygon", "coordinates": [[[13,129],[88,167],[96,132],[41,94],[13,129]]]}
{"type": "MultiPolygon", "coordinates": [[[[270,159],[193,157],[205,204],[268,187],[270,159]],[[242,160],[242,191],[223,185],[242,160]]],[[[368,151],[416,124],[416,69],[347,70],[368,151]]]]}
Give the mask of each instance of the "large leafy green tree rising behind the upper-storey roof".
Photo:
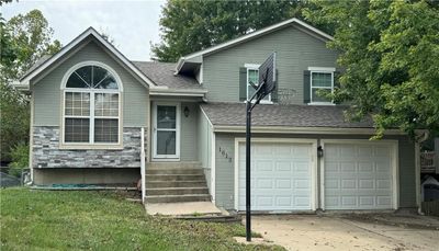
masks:
{"type": "Polygon", "coordinates": [[[301,16],[300,0],[184,1],[168,0],[162,9],[160,44],[151,45],[159,61],[179,57],[301,16]]]}

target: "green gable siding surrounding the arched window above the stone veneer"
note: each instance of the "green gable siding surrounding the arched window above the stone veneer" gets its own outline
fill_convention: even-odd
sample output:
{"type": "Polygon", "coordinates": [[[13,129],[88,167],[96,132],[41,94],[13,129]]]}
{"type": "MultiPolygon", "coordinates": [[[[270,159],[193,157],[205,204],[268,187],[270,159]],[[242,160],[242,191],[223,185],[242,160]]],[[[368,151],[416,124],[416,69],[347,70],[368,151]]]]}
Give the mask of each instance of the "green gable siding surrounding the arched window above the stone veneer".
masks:
{"type": "Polygon", "coordinates": [[[94,42],[90,42],[70,58],[61,62],[33,87],[35,100],[35,126],[59,126],[60,123],[60,84],[64,75],[78,62],[86,60],[101,61],[117,72],[123,82],[123,124],[125,127],[147,125],[148,90],[127,70],[116,62],[94,42]]]}

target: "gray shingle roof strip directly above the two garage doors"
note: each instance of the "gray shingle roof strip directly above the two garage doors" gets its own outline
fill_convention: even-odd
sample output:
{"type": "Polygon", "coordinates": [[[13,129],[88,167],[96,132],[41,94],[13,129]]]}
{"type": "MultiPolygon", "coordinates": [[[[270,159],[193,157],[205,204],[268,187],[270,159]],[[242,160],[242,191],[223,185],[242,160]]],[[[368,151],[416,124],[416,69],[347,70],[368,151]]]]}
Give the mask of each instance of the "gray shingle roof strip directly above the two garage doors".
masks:
{"type": "MultiPolygon", "coordinates": [[[[206,103],[202,109],[213,125],[245,126],[246,104],[206,103]]],[[[252,126],[373,128],[371,118],[347,122],[346,106],[259,104],[251,114],[252,126]]]]}

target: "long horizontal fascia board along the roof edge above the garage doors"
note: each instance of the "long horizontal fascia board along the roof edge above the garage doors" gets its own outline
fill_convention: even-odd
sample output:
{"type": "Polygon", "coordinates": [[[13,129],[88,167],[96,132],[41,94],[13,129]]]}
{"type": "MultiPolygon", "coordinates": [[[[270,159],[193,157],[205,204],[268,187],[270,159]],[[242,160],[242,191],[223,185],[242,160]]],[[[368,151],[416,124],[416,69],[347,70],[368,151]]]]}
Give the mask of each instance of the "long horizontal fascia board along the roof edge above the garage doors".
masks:
{"type": "MultiPolygon", "coordinates": [[[[245,133],[245,126],[221,126],[214,125],[215,133],[245,133]]],[[[333,128],[333,127],[289,127],[289,126],[252,126],[252,133],[269,133],[269,134],[331,134],[331,135],[373,135],[374,128],[333,128]]],[[[398,129],[389,129],[384,135],[406,135],[398,129]]]]}

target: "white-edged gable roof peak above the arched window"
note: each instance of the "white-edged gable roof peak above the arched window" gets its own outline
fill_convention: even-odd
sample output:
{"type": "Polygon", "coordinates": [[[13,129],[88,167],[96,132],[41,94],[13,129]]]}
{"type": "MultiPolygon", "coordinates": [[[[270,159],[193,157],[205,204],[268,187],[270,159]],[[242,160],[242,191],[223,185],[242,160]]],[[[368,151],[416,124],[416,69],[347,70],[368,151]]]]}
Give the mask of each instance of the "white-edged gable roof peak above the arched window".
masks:
{"type": "Polygon", "coordinates": [[[133,62],[131,62],[111,43],[109,43],[106,39],[104,39],[93,27],[87,28],[85,32],[82,32],[79,36],[77,36],[75,39],[72,39],[69,44],[64,46],[58,53],[56,53],[52,57],[49,57],[49,58],[43,57],[41,60],[38,60],[37,64],[35,64],[20,79],[20,84],[29,85],[30,81],[34,77],[38,76],[42,71],[47,69],[54,62],[56,62],[59,59],[61,59],[63,56],[67,55],[69,52],[75,49],[80,43],[82,43],[83,41],[86,41],[90,36],[95,38],[99,42],[100,45],[102,45],[104,48],[106,48],[109,52],[111,52],[112,55],[115,56],[115,58],[119,59],[123,64],[124,67],[126,67],[135,77],[137,77],[139,80],[142,80],[142,82],[145,84],[145,87],[148,87],[148,88],[156,87],[156,84],[150,79],[148,79],[136,66],[134,66],[133,62]]]}

